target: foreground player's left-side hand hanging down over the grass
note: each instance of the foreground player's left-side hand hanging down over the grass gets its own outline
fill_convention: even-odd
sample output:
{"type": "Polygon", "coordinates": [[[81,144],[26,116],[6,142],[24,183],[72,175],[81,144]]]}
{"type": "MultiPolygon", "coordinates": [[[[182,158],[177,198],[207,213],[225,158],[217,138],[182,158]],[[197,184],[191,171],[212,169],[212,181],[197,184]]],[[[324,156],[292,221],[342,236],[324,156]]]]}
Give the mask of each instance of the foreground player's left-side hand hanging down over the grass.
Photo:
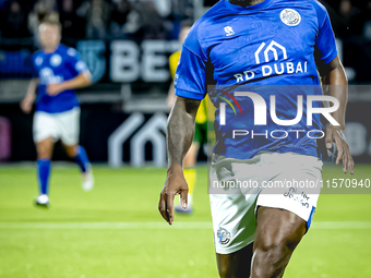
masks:
{"type": "Polygon", "coordinates": [[[188,184],[180,165],[169,167],[167,179],[159,195],[158,210],[169,225],[172,225],[173,221],[173,198],[176,195],[180,195],[180,204],[183,208],[187,208],[188,184]]]}

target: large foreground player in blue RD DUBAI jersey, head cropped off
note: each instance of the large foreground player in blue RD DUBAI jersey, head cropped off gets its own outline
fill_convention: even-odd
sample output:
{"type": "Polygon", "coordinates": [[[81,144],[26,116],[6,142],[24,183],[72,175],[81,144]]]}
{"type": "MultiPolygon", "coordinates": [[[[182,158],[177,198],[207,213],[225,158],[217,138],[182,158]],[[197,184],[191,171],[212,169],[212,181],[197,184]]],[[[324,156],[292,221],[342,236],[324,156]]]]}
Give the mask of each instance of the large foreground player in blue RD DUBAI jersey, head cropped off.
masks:
{"type": "Polygon", "coordinates": [[[347,78],[325,8],[316,0],[220,0],[189,32],[175,87],[161,216],[173,222],[176,194],[187,207],[183,158],[207,92],[216,107],[210,198],[219,275],[282,277],[310,227],[320,188],[287,186],[271,194],[264,184],[321,180],[321,136],[310,134],[321,133],[322,125],[310,104],[316,111],[326,108],[313,99],[332,99],[323,136],[327,148],[335,143],[344,173],[354,173],[343,133],[347,78]],[[330,96],[322,95],[321,80],[331,85],[330,96]],[[210,84],[216,85],[207,92],[210,84]],[[246,182],[247,189],[214,191],[215,182],[246,182]]]}

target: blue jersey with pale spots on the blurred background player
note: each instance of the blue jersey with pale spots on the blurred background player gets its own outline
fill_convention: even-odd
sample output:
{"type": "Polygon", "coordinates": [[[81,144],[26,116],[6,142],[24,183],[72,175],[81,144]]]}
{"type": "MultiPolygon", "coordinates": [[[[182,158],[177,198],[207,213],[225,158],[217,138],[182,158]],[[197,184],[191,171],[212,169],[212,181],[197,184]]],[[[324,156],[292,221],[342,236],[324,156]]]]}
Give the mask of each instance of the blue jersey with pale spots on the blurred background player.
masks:
{"type": "Polygon", "coordinates": [[[36,99],[37,111],[59,113],[79,106],[74,89],[63,90],[57,96],[49,96],[46,93],[48,84],[62,83],[87,71],[85,62],[75,49],[59,45],[52,53],[46,53],[43,50],[37,51],[33,56],[33,77],[39,78],[36,99]]]}

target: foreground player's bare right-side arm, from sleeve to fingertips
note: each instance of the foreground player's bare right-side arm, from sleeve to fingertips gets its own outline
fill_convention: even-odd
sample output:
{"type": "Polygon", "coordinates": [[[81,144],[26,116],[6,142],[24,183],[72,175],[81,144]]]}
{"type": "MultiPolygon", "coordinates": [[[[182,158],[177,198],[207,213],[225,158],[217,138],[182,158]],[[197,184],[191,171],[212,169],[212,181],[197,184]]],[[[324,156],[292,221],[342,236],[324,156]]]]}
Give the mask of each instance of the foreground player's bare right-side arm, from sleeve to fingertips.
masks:
{"type": "Polygon", "coordinates": [[[332,116],[340,125],[334,126],[328,124],[326,129],[326,147],[331,148],[333,146],[333,142],[335,142],[336,148],[338,150],[336,164],[338,165],[342,160],[344,173],[347,173],[349,169],[349,172],[354,174],[355,162],[344,135],[345,111],[348,100],[348,81],[338,57],[336,57],[332,62],[321,65],[319,70],[323,84],[330,85],[327,88],[328,94],[337,98],[339,101],[339,108],[333,112],[332,116]]]}

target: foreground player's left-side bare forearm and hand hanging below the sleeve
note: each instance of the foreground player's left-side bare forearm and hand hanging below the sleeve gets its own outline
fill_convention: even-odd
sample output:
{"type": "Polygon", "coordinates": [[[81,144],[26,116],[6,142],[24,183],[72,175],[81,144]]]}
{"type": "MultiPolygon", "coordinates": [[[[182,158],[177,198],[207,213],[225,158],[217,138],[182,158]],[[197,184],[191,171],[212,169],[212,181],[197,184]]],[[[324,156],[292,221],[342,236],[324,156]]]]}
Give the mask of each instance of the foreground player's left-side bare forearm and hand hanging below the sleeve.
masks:
{"type": "Polygon", "coordinates": [[[167,123],[168,170],[160,193],[158,210],[172,225],[173,197],[180,195],[187,207],[188,184],[183,176],[183,159],[194,135],[195,116],[201,100],[177,97],[167,123]]]}

